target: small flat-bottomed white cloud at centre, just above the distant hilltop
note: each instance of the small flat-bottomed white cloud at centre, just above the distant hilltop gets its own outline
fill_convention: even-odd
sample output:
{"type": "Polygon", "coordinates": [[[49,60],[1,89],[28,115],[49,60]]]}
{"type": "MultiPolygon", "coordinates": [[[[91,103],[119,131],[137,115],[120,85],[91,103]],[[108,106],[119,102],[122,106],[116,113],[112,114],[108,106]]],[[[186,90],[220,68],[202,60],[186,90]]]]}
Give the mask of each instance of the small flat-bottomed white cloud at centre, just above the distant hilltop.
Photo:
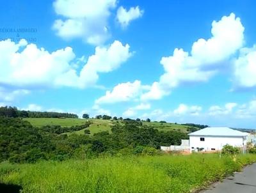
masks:
{"type": "Polygon", "coordinates": [[[127,102],[138,97],[143,89],[147,89],[147,86],[141,85],[141,82],[138,80],[120,83],[112,91],[106,91],[106,94],[98,98],[95,103],[113,104],[116,102],[127,102]]]}

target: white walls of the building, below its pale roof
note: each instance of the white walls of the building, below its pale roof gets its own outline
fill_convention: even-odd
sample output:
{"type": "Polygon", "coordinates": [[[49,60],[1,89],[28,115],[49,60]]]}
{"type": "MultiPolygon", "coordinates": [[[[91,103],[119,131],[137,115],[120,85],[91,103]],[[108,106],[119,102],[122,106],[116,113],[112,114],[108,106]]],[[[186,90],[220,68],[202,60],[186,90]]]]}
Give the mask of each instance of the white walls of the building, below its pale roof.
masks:
{"type": "Polygon", "coordinates": [[[246,137],[222,137],[222,136],[189,136],[190,151],[196,148],[204,148],[203,151],[221,150],[225,144],[232,146],[246,146],[246,137]],[[200,141],[204,137],[205,141],[200,141]]]}

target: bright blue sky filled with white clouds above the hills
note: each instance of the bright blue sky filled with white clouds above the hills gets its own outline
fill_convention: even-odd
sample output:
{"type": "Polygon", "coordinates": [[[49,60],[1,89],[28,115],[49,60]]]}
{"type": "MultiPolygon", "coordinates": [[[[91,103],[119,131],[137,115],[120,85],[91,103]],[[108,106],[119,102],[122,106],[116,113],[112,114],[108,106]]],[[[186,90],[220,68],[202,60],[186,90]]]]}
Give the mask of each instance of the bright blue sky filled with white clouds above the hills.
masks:
{"type": "Polygon", "coordinates": [[[256,127],[256,2],[4,1],[0,106],[256,127]]]}

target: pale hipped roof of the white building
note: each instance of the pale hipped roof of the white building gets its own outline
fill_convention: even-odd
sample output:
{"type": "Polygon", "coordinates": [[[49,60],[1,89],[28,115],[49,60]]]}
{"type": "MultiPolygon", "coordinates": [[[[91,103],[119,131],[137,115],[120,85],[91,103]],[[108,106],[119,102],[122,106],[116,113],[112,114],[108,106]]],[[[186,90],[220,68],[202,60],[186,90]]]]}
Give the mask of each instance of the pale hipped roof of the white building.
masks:
{"type": "Polygon", "coordinates": [[[244,132],[239,132],[239,130],[234,130],[228,127],[207,127],[191,134],[192,136],[233,136],[233,137],[242,137],[247,136],[244,132]]]}

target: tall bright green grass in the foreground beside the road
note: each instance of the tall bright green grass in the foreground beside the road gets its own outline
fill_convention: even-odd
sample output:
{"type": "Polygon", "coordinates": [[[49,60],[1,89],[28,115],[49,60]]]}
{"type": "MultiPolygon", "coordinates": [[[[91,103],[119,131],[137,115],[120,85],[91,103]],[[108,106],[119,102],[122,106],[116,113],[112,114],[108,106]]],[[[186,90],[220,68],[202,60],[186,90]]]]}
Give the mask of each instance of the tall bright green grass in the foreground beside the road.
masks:
{"type": "Polygon", "coordinates": [[[22,192],[190,192],[240,171],[256,155],[107,157],[94,160],[0,164],[0,183],[22,192]]]}

